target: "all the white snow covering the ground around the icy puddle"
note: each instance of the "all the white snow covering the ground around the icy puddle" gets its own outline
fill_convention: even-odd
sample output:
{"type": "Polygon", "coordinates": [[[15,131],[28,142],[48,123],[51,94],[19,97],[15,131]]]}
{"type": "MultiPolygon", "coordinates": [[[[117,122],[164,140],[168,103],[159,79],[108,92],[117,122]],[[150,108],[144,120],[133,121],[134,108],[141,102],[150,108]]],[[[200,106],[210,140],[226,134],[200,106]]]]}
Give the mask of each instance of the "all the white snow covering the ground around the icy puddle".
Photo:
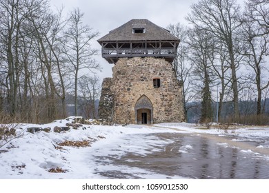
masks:
{"type": "MultiPolygon", "coordinates": [[[[150,135],[147,136],[146,141],[145,137],[142,141],[141,134],[179,132],[183,134],[235,136],[235,139],[232,139],[235,141],[269,139],[269,127],[240,127],[224,132],[214,127],[205,130],[189,123],[126,126],[83,125],[77,130],[53,132],[55,126],[64,127],[66,123],[71,123],[71,121],[72,119],[63,119],[43,125],[20,124],[17,133],[23,132],[23,136],[12,140],[0,149],[0,179],[103,179],[104,177],[99,173],[106,171],[108,167],[110,170],[128,170],[129,173],[137,173],[145,179],[165,179],[166,176],[162,174],[138,167],[122,166],[117,168],[119,166],[110,165],[109,160],[97,163],[93,161],[93,157],[106,158],[106,155],[109,155],[113,150],[117,151],[117,158],[128,151],[143,155],[148,153],[147,150],[150,149],[148,147],[164,146],[170,143],[170,141],[158,141],[150,135]],[[50,127],[52,131],[39,131],[32,134],[27,132],[27,128],[31,127],[50,127]],[[130,137],[135,139],[133,140],[135,143],[123,146],[122,141],[130,137]],[[90,146],[77,148],[59,145],[65,141],[89,141],[90,146]],[[63,172],[49,172],[55,168],[60,168],[63,172]]],[[[219,144],[227,145],[221,142],[219,144]]],[[[269,145],[259,145],[257,148],[268,149],[269,145]]],[[[180,151],[188,152],[190,149],[192,146],[185,145],[180,148],[180,151]]],[[[174,176],[174,178],[181,178],[181,176],[174,176]]]]}

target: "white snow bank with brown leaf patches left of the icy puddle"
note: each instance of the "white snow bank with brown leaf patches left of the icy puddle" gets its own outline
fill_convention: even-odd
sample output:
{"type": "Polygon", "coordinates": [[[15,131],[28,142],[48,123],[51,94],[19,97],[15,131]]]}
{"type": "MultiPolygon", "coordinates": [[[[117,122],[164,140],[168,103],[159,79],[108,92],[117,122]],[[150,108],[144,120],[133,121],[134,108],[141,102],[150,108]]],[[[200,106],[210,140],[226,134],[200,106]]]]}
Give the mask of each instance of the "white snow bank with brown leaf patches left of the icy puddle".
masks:
{"type": "MultiPolygon", "coordinates": [[[[102,147],[107,145],[110,146],[110,149],[116,150],[118,148],[117,156],[120,157],[126,149],[126,147],[121,147],[121,141],[126,139],[126,136],[169,131],[169,129],[144,128],[141,125],[128,125],[126,127],[83,125],[86,130],[79,128],[78,130],[71,129],[61,133],[40,131],[32,134],[27,132],[27,128],[31,127],[50,127],[52,130],[54,126],[63,127],[66,126],[66,123],[71,123],[73,118],[57,120],[43,125],[20,124],[19,130],[23,130],[23,136],[14,139],[1,148],[1,150],[8,150],[8,152],[0,153],[0,179],[100,179],[101,176],[97,176],[92,171],[95,163],[91,163],[90,157],[92,154],[94,156],[110,154],[110,152],[102,150],[102,147]],[[63,146],[63,150],[57,150],[54,147],[59,146],[57,144],[63,141],[83,141],[89,139],[97,140],[92,144],[92,147],[74,148],[63,146]],[[61,167],[68,172],[48,172],[51,168],[56,167],[61,167]]],[[[155,141],[156,139],[148,140],[155,142],[155,145],[161,145],[155,141]]],[[[137,144],[139,143],[141,141],[137,137],[137,144]]],[[[137,148],[139,145],[130,144],[128,148],[131,148],[135,153],[146,154],[147,152],[144,150],[146,145],[150,146],[150,144],[146,143],[143,148],[137,148]]],[[[109,166],[100,166],[99,170],[105,167],[109,166]]],[[[139,170],[137,168],[137,172],[139,170]]],[[[156,177],[157,174],[148,172],[148,175],[156,177]]]]}

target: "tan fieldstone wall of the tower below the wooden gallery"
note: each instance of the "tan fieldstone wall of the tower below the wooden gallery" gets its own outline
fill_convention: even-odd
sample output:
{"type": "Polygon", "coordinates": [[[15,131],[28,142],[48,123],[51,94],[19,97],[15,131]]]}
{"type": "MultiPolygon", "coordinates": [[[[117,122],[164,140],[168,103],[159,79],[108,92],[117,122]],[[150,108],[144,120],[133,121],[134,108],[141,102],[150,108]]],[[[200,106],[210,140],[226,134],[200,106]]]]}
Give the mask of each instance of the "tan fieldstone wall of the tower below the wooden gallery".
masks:
{"type": "Polygon", "coordinates": [[[135,104],[143,95],[152,103],[153,123],[185,121],[181,85],[165,59],[120,58],[111,81],[114,123],[137,123],[135,104]],[[156,78],[161,81],[160,88],[153,86],[156,78]]]}

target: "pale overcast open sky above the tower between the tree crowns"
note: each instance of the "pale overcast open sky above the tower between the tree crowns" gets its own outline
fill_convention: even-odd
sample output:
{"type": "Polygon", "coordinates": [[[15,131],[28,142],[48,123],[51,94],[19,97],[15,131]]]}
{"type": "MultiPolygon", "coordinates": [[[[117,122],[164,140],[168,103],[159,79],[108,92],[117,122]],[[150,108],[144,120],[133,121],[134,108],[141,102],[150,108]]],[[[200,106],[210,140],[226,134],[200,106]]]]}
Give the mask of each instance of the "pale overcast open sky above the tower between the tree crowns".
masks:
{"type": "MultiPolygon", "coordinates": [[[[166,28],[170,23],[186,23],[184,17],[190,12],[190,5],[198,0],[50,0],[52,8],[63,6],[65,12],[80,8],[84,23],[100,33],[99,38],[108,34],[131,19],[148,19],[166,28]]],[[[240,0],[243,1],[243,0],[240,0]]],[[[97,41],[92,46],[101,50],[97,41]]],[[[100,51],[101,55],[101,51],[100,51]]],[[[99,77],[112,76],[112,65],[101,56],[97,57],[103,71],[99,77]]]]}

